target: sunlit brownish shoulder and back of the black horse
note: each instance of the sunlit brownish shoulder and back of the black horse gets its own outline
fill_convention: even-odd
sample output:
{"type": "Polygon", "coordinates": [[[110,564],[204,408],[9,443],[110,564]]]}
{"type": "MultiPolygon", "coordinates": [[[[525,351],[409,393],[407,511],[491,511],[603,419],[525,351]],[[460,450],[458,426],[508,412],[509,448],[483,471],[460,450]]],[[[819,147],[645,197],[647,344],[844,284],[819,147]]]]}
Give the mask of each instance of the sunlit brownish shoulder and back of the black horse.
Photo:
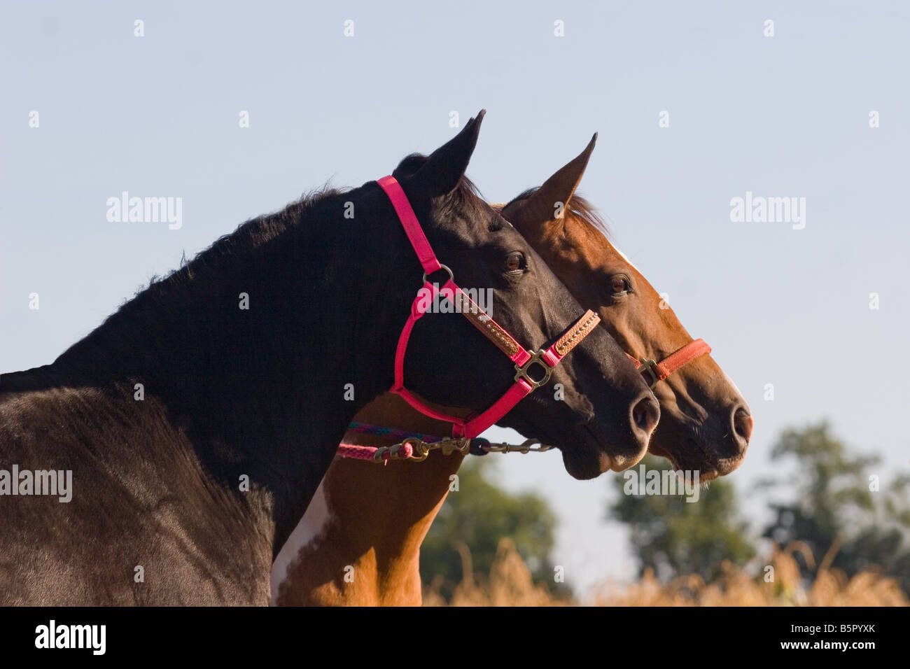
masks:
{"type": "Polygon", "coordinates": [[[245,542],[247,504],[210,485],[163,407],[62,376],[0,385],[0,469],[18,473],[0,497],[0,604],[268,603],[268,542],[245,542]],[[37,490],[49,472],[59,485],[37,490]]]}

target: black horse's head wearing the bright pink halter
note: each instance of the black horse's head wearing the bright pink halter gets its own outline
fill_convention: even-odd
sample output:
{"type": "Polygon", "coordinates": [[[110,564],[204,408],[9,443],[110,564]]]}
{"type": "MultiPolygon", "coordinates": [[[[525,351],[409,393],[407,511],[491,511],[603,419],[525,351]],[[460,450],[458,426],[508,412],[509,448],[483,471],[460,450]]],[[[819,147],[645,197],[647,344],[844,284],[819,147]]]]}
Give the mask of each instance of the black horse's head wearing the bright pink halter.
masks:
{"type": "MultiPolygon", "coordinates": [[[[472,118],[429,157],[405,158],[394,177],[460,288],[476,291],[480,306],[521,346],[542,350],[584,309],[464,177],[482,117],[483,112],[472,118]]],[[[417,258],[411,262],[419,276],[417,258]]],[[[445,271],[429,277],[440,285],[446,279],[445,271]]],[[[483,411],[498,400],[515,374],[507,355],[460,313],[421,318],[405,359],[410,389],[440,405],[470,411],[483,411]]],[[[642,376],[606,331],[594,328],[556,367],[549,384],[498,422],[559,447],[572,476],[592,478],[639,461],[659,416],[642,376]]]]}

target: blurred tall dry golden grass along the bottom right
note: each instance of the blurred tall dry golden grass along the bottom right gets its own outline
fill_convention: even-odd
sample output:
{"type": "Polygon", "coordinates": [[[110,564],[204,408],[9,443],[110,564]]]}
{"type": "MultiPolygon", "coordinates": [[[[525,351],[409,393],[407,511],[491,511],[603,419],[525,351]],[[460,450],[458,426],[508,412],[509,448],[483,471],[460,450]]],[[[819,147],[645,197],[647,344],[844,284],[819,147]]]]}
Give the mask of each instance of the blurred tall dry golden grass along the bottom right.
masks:
{"type": "MultiPolygon", "coordinates": [[[[723,563],[722,575],[704,583],[697,575],[681,576],[670,583],[658,581],[648,570],[637,583],[607,581],[588,593],[582,602],[554,597],[543,585],[535,585],[531,571],[515,550],[510,539],[500,542],[490,575],[475,580],[467,546],[460,546],[465,577],[455,588],[452,606],[563,606],[592,603],[598,606],[907,606],[910,600],[893,578],[875,571],[857,573],[848,578],[839,569],[830,568],[837,546],[824,556],[815,568],[814,556],[802,542],[784,549],[774,548],[760,573],[747,573],[730,563],[723,563]],[[806,582],[800,575],[794,553],[803,555],[814,570],[806,582]],[[773,567],[773,572],[767,567],[773,567]],[[773,580],[765,581],[766,574],[773,580]]],[[[425,606],[446,602],[440,595],[440,583],[424,588],[425,606]]]]}

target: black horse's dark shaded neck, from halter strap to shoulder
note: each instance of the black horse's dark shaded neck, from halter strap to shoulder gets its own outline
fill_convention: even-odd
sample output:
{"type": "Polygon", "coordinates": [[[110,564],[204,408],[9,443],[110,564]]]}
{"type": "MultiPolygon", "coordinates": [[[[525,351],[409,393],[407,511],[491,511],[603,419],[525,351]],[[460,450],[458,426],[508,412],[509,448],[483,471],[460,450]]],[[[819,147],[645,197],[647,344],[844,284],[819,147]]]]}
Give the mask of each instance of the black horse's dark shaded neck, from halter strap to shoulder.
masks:
{"type": "Polygon", "coordinates": [[[76,383],[143,384],[217,481],[237,491],[246,474],[270,495],[277,552],[350,419],[389,388],[419,285],[379,188],[327,193],[221,238],[55,367],[76,383]]]}

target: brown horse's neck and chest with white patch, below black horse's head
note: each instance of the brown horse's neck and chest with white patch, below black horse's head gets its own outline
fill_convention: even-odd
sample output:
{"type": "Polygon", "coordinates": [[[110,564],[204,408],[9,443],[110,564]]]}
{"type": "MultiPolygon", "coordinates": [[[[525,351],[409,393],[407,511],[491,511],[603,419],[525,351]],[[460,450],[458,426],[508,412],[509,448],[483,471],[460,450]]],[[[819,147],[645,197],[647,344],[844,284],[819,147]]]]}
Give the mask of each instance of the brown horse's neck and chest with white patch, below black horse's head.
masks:
{"type": "MultiPolygon", "coordinates": [[[[356,420],[438,436],[451,428],[391,394],[364,407],[356,420]]],[[[345,441],[395,442],[356,432],[345,441]]],[[[420,543],[461,461],[460,455],[440,451],[423,462],[384,466],[337,457],[278,555],[273,600],[279,605],[419,605],[420,543]]]]}

